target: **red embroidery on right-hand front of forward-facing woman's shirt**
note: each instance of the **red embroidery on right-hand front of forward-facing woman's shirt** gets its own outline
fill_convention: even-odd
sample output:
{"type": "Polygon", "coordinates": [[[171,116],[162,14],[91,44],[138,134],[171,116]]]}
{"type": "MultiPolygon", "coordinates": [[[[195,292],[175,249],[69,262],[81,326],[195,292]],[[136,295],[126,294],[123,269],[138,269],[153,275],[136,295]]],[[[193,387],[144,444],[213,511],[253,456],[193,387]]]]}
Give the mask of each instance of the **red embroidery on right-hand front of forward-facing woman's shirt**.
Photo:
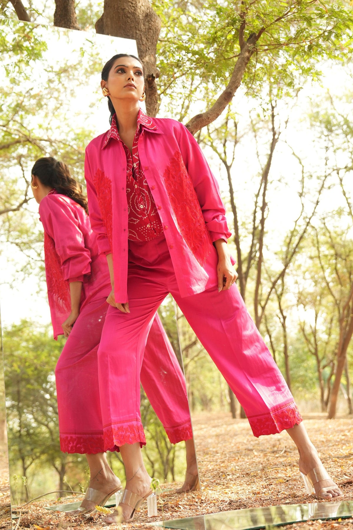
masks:
{"type": "Polygon", "coordinates": [[[182,153],[175,152],[163,177],[180,233],[197,261],[203,264],[210,253],[211,237],[182,153]]]}

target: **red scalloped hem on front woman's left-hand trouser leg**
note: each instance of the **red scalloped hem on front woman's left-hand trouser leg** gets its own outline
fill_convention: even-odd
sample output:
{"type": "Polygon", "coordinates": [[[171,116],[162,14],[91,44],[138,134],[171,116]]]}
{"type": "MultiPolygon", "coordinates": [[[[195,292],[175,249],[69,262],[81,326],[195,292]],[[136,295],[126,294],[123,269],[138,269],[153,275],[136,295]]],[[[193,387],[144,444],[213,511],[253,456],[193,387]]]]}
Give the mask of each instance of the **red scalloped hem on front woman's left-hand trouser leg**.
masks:
{"type": "Polygon", "coordinates": [[[112,423],[103,428],[104,451],[117,451],[125,444],[140,443],[140,447],[146,445],[146,437],[140,421],[126,423],[112,423]]]}

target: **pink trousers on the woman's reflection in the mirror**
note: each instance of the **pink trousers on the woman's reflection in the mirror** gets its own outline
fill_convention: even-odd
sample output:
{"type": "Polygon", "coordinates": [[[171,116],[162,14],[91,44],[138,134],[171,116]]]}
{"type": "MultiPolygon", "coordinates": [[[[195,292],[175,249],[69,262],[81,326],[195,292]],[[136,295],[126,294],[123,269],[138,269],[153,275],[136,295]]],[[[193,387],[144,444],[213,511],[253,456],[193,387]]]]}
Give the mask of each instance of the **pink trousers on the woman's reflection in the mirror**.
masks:
{"type": "MultiPolygon", "coordinates": [[[[65,453],[117,450],[118,444],[107,446],[103,442],[99,396],[107,390],[109,377],[101,379],[99,388],[97,375],[97,351],[107,309],[106,297],[97,298],[83,308],[55,370],[60,448],[65,453]]],[[[115,351],[119,342],[113,342],[115,351]]],[[[113,360],[113,365],[109,370],[114,374],[120,368],[125,373],[126,366],[119,367],[118,358],[113,360]]],[[[141,384],[171,443],[192,438],[185,378],[158,315],[153,320],[144,352],[141,384]]],[[[116,402],[125,400],[124,386],[115,387],[114,391],[116,402]]]]}

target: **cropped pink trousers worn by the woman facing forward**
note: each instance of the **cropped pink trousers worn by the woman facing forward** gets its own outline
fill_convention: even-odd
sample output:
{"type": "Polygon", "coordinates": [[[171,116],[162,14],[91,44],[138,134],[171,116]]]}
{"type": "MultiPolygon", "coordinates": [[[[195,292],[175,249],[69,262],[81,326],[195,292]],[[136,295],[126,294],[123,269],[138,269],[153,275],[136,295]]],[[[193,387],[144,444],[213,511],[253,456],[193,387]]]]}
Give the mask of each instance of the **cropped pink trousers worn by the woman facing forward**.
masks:
{"type": "Polygon", "coordinates": [[[162,235],[149,242],[129,242],[130,313],[110,306],[105,319],[98,375],[106,448],[145,442],[139,414],[140,369],[153,317],[168,293],[236,394],[255,436],[274,434],[302,421],[236,285],[220,293],[212,287],[180,297],[162,235]]]}

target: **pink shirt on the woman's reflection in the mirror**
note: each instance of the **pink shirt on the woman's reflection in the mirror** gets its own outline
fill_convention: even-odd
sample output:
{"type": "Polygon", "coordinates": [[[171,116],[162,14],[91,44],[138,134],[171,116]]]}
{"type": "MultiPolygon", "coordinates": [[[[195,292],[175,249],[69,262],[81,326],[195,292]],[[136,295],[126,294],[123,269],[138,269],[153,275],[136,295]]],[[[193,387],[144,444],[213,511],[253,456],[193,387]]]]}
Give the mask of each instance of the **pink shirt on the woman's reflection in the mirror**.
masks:
{"type": "Polygon", "coordinates": [[[99,255],[96,236],[85,210],[74,200],[50,193],[39,205],[44,228],[44,258],[54,338],[71,312],[70,281],[83,281],[80,309],[111,291],[106,258],[99,255]]]}

